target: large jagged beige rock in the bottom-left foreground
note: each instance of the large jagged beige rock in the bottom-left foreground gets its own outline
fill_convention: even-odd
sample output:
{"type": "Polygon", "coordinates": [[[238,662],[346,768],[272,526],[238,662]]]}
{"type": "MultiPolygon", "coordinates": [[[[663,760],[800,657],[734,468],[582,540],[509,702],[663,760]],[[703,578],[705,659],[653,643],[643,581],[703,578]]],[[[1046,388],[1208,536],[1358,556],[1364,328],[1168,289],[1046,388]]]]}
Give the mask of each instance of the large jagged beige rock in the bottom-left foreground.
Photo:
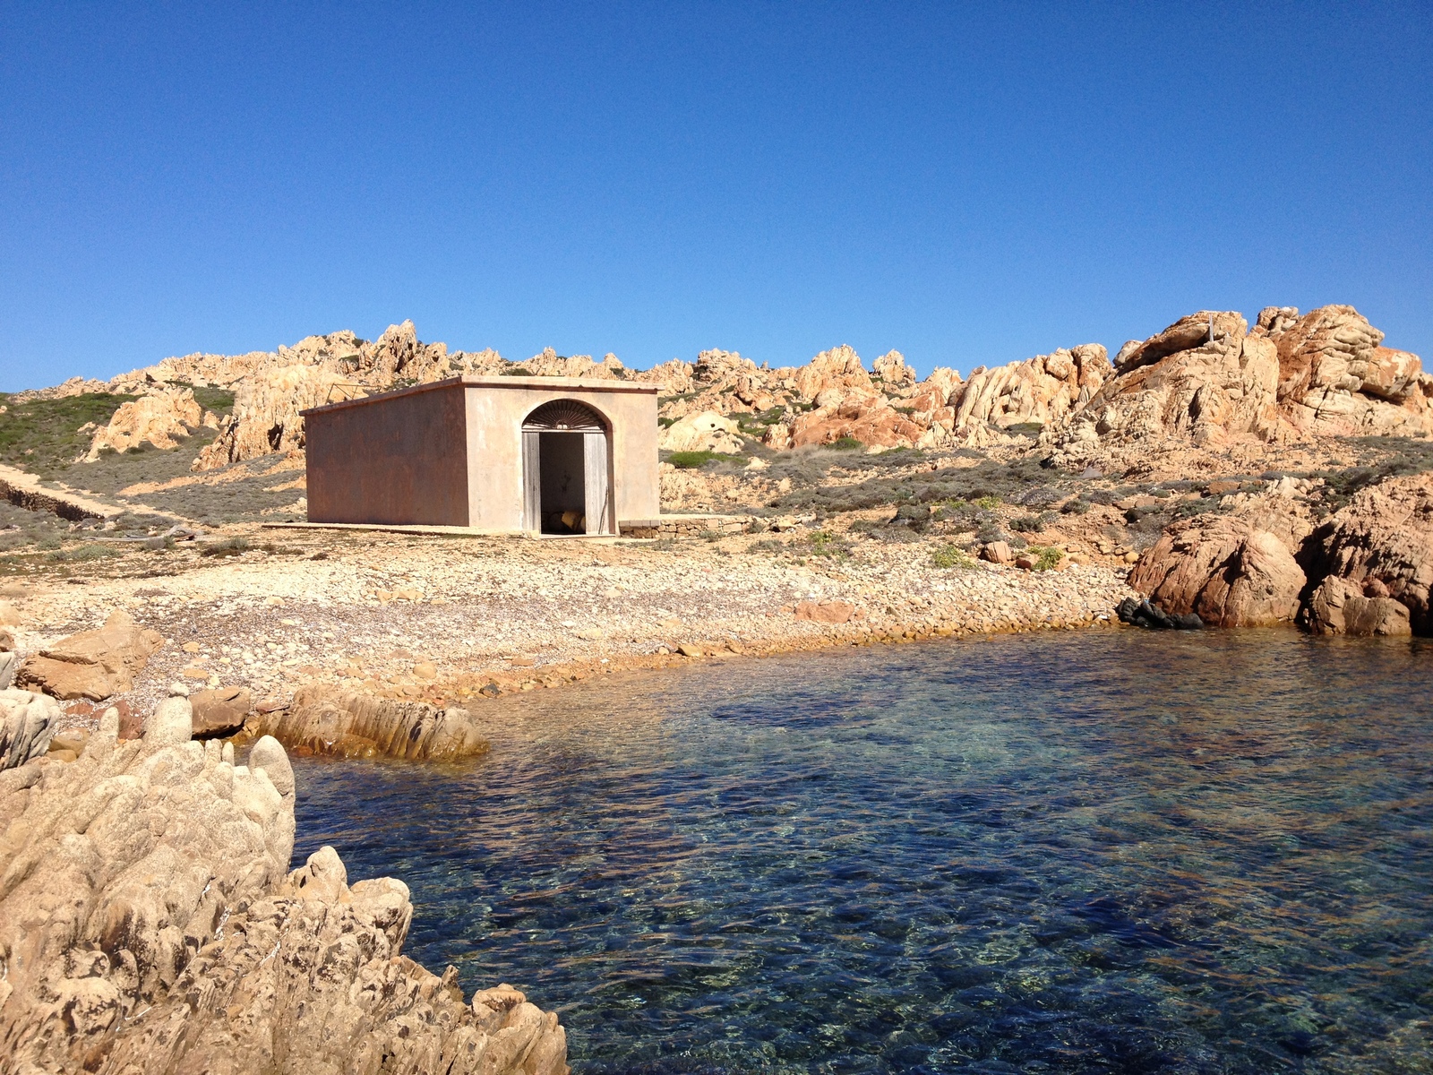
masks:
{"type": "Polygon", "coordinates": [[[332,849],[288,871],[294,774],[110,710],[70,763],[0,773],[0,1068],[14,1072],[566,1072],[555,1015],[510,986],[464,1003],[401,955],[393,879],[332,849]]]}

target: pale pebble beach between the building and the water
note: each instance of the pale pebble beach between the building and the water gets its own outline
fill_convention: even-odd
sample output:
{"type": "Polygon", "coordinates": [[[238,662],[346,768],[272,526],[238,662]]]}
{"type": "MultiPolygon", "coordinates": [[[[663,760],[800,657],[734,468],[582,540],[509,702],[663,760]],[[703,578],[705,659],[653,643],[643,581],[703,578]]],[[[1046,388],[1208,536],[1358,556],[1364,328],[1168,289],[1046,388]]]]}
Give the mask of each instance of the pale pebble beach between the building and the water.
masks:
{"type": "MultiPolygon", "coordinates": [[[[11,582],[3,595],[19,613],[17,648],[34,652],[122,608],[166,639],[122,699],[135,712],[175,679],[242,685],[272,704],[320,681],[477,707],[509,691],[714,654],[1109,624],[1131,593],[1113,560],[1059,572],[941,569],[926,542],[856,540],[837,556],[802,556],[800,533],[778,552],[747,552],[751,538],[245,535],[251,548],[234,556],[136,550],[87,573],[72,565],[64,578],[36,570],[11,582]],[[792,612],[802,601],[857,612],[841,625],[802,621],[792,612]]],[[[92,720],[89,708],[72,707],[76,722],[92,720]]]]}

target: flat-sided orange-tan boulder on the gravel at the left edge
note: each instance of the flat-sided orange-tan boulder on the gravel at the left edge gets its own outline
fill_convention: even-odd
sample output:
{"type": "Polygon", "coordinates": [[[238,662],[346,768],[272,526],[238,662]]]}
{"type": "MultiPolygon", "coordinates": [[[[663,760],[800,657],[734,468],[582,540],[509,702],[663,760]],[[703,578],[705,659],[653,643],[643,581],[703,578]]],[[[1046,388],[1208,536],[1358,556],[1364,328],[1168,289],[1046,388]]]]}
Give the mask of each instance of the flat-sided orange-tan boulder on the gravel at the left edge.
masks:
{"type": "Polygon", "coordinates": [[[128,612],[118,611],[105,626],[62,638],[24,661],[14,682],[64,701],[102,701],[133,687],[135,677],[163,642],[158,631],[142,628],[128,612]]]}

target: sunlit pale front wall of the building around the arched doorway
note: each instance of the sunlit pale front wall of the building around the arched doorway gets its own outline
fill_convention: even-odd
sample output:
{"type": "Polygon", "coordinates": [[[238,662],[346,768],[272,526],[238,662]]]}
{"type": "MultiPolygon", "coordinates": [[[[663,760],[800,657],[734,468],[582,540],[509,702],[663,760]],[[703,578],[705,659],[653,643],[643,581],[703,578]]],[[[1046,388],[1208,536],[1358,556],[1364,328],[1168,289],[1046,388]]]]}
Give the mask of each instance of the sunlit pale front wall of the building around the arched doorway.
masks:
{"type": "Polygon", "coordinates": [[[523,419],[550,400],[577,400],[612,427],[616,520],[661,513],[656,394],[575,388],[467,387],[470,526],[523,529],[523,419]]]}

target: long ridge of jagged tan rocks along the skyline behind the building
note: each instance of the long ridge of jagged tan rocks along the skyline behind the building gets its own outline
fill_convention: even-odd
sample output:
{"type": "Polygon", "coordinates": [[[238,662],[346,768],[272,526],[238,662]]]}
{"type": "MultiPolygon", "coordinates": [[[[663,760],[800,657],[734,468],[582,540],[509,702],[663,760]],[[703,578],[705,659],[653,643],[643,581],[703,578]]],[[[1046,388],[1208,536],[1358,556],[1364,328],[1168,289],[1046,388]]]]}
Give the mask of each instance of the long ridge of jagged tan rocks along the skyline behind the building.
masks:
{"type": "Polygon", "coordinates": [[[1012,430],[1039,430],[1059,463],[1079,467],[1121,460],[1126,446],[1159,453],[1250,439],[1433,433],[1433,377],[1417,355],[1381,343],[1383,333],[1346,305],[1304,317],[1268,307],[1252,330],[1235,311],[1199,311],[1125,344],[1113,364],[1102,345],[1082,344],[979,367],[969,380],[944,367],[917,380],[898,351],[867,370],[845,345],[780,368],[721,350],[645,371],[625,368],[612,354],[595,361],[550,348],[512,363],[492,350],[426,344],[404,321],[375,341],[341,331],[272,353],[191,354],[107,383],[73,380],[33,396],[138,397],[107,426],[93,429],[86,460],[145,443],[168,449],[178,437],[215,429],[192,462],[199,472],[302,450],[299,411],[307,407],[461,374],[652,383],[662,388],[663,424],[721,416],[735,421],[724,427],[729,436],[772,450],[840,441],[870,449],[984,447],[1012,443],[1012,430]],[[195,388],[232,391],[232,410],[219,416],[202,408],[195,388]]]}

